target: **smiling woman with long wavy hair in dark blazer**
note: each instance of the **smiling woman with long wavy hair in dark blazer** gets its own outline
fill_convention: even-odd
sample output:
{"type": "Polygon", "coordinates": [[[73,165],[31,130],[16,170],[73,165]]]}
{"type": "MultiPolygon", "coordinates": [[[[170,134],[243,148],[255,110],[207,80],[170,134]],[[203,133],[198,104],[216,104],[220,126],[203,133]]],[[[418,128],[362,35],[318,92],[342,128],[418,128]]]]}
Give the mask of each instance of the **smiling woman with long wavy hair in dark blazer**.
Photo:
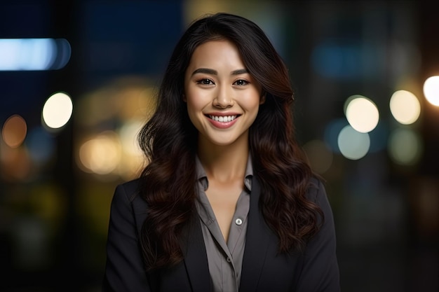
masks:
{"type": "Polygon", "coordinates": [[[104,291],[339,291],[292,101],[255,23],[218,13],[187,29],[140,132],[149,164],[114,193],[104,291]]]}

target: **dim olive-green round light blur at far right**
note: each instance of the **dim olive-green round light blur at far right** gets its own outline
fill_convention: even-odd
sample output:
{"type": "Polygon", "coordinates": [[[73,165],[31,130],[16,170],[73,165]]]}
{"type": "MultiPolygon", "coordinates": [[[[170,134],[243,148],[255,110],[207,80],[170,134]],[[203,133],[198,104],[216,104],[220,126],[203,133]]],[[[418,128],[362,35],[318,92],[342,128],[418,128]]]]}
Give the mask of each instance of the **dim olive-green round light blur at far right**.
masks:
{"type": "Polygon", "coordinates": [[[399,165],[414,165],[421,158],[419,135],[410,129],[396,129],[389,137],[389,156],[399,165]]]}

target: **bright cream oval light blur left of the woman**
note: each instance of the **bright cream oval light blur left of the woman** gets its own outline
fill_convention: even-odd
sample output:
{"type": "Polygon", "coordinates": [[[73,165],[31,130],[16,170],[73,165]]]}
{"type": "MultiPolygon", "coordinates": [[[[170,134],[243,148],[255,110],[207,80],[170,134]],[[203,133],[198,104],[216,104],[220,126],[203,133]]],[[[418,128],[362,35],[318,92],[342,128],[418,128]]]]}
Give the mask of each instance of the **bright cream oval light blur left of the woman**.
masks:
{"type": "Polygon", "coordinates": [[[67,124],[72,113],[72,99],[64,92],[57,92],[43,106],[43,121],[48,127],[58,129],[67,124]]]}

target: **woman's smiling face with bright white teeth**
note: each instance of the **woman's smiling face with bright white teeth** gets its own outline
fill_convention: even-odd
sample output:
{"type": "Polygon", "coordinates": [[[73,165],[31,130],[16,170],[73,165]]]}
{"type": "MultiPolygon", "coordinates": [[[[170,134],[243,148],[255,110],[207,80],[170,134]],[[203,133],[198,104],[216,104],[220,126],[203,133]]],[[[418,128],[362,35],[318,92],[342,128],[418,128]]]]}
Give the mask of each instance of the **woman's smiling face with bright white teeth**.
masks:
{"type": "Polygon", "coordinates": [[[203,145],[248,143],[248,130],[262,104],[261,85],[227,40],[198,46],[184,76],[184,101],[203,145]]]}

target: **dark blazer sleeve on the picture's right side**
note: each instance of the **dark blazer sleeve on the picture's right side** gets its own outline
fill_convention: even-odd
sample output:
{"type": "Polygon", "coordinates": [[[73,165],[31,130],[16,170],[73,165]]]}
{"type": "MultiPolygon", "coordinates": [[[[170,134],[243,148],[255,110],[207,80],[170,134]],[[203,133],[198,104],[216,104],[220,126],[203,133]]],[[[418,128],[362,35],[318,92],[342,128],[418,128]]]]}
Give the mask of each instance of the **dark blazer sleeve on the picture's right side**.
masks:
{"type": "Polygon", "coordinates": [[[319,232],[306,246],[297,291],[339,292],[334,218],[325,187],[320,181],[314,185],[316,188],[312,188],[310,199],[318,204],[325,217],[319,232]]]}

